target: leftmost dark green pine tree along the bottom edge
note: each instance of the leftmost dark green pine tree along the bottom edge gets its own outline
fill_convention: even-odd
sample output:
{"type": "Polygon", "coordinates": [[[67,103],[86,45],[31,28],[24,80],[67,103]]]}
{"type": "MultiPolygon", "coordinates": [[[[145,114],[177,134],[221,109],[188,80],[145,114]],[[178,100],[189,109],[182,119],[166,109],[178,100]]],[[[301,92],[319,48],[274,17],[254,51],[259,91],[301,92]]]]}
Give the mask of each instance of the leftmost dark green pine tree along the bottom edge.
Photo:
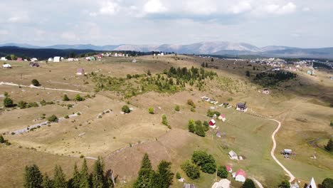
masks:
{"type": "Polygon", "coordinates": [[[24,184],[26,188],[39,188],[42,187],[43,175],[36,164],[31,167],[26,166],[24,174],[24,184]]]}

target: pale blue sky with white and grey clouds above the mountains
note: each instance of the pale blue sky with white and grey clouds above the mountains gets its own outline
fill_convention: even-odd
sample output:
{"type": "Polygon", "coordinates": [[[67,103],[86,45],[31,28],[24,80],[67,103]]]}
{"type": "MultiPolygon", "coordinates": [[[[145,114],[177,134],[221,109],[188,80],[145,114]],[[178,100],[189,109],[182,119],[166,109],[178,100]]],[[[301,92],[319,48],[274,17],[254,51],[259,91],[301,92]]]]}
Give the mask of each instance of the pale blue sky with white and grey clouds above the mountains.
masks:
{"type": "Polygon", "coordinates": [[[0,43],[333,46],[330,0],[1,0],[0,43]]]}

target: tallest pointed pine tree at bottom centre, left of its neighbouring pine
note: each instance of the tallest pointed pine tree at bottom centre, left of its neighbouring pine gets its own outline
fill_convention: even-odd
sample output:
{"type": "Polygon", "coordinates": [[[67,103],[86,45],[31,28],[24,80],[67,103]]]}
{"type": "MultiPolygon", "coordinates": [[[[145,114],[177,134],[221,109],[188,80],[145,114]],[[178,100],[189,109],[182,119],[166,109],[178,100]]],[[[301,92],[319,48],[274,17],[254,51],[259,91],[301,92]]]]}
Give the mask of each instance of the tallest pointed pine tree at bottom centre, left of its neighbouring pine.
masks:
{"type": "Polygon", "coordinates": [[[152,177],[152,162],[150,162],[148,154],[145,153],[142,159],[141,168],[139,170],[139,175],[137,181],[134,183],[134,188],[144,188],[149,187],[151,177],[152,177]]]}

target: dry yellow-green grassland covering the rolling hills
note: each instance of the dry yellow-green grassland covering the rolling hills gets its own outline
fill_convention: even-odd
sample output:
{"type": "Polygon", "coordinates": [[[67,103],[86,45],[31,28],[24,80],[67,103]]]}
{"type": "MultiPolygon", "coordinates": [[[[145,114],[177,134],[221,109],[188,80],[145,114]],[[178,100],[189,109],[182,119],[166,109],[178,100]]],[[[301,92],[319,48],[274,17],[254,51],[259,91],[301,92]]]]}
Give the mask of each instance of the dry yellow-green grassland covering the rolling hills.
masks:
{"type": "MultiPolygon", "coordinates": [[[[296,80],[282,83],[273,88],[270,95],[263,95],[258,90],[263,86],[254,83],[245,76],[245,71],[255,73],[265,70],[264,66],[247,66],[246,61],[211,62],[208,58],[192,56],[152,56],[132,58],[103,58],[102,61],[78,61],[61,63],[40,63],[40,68],[31,68],[26,62],[12,62],[12,69],[0,70],[0,82],[31,85],[37,79],[41,87],[78,90],[93,95],[96,83],[91,73],[126,79],[127,74],[152,75],[162,73],[171,66],[200,67],[207,62],[218,77],[206,80],[204,88],[186,85],[177,93],[146,92],[131,98],[125,98],[117,91],[102,90],[95,97],[78,102],[63,101],[63,95],[70,99],[77,93],[24,88],[11,85],[0,85],[0,94],[5,91],[18,103],[53,101],[52,105],[37,108],[2,108],[0,110],[0,133],[12,143],[10,146],[0,145],[0,187],[22,187],[23,168],[36,163],[43,170],[52,174],[56,164],[60,164],[66,174],[72,172],[75,162],[81,162],[80,156],[98,157],[105,160],[106,168],[112,168],[120,174],[119,187],[131,187],[137,176],[142,156],[149,154],[154,167],[160,160],[172,162],[172,171],[180,172],[186,182],[193,182],[198,187],[211,187],[215,175],[201,174],[201,179],[190,181],[180,169],[180,164],[191,158],[194,150],[205,150],[216,159],[218,165],[230,164],[233,170],[242,168],[248,177],[258,179],[264,187],[277,187],[286,178],[282,169],[270,157],[273,142],[271,134],[277,123],[262,117],[251,115],[258,113],[263,117],[272,117],[282,122],[276,135],[277,150],[275,155],[302,184],[314,177],[317,183],[326,177],[333,177],[333,155],[323,149],[333,129],[329,126],[333,119],[333,81],[329,80],[328,71],[317,71],[316,76],[297,72],[296,80]],[[77,68],[84,68],[88,76],[75,75],[77,68]],[[22,76],[22,79],[21,79],[22,76]],[[228,102],[233,108],[218,107],[218,111],[226,115],[226,122],[218,121],[218,130],[223,137],[215,136],[215,130],[206,132],[206,137],[199,137],[187,130],[190,119],[210,120],[207,110],[213,106],[201,100],[206,95],[220,103],[228,102]],[[186,104],[191,99],[196,104],[195,112],[186,104]],[[236,112],[234,106],[238,102],[248,104],[248,113],[236,112]],[[73,108],[67,105],[73,105],[73,108]],[[122,105],[129,105],[134,110],[121,114],[122,105]],[[174,110],[180,106],[180,111],[174,110]],[[154,114],[148,108],[154,108],[154,114]],[[103,113],[110,110],[110,113],[103,113]],[[46,117],[56,115],[65,117],[80,112],[81,115],[51,123],[22,135],[11,135],[10,132],[28,127],[38,122],[43,114],[46,117]],[[162,125],[165,114],[171,130],[162,125]],[[285,159],[280,150],[292,149],[296,155],[285,159]],[[245,157],[242,161],[228,158],[230,150],[245,157]],[[315,155],[316,160],[310,157],[315,155]],[[126,182],[126,183],[125,183],[126,182]]],[[[139,78],[137,78],[139,80],[139,78]]],[[[85,94],[80,93],[81,96],[85,94]]],[[[2,101],[3,98],[0,97],[2,101]]],[[[2,106],[2,104],[0,105],[2,106]]],[[[89,160],[89,164],[93,160],[89,160]]],[[[231,175],[228,179],[232,180],[231,175]]],[[[233,187],[241,184],[232,180],[233,187]]],[[[172,187],[182,187],[182,183],[174,179],[172,187]]]]}

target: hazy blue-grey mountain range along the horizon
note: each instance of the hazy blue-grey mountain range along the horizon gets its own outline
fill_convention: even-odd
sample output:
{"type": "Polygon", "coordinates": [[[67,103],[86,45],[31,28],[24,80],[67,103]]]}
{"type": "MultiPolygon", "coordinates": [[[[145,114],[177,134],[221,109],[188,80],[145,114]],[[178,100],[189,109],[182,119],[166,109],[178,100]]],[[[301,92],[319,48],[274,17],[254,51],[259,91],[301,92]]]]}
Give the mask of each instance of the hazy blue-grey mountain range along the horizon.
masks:
{"type": "Polygon", "coordinates": [[[195,53],[221,56],[267,56],[267,57],[290,57],[290,58],[333,58],[332,48],[294,48],[288,46],[265,46],[259,48],[249,43],[232,43],[226,41],[201,42],[189,45],[162,44],[162,45],[107,45],[95,46],[92,44],[78,45],[54,45],[54,46],[31,46],[21,43],[5,43],[0,46],[18,46],[21,48],[55,48],[77,49],[93,51],[168,51],[175,53],[195,53]]]}

